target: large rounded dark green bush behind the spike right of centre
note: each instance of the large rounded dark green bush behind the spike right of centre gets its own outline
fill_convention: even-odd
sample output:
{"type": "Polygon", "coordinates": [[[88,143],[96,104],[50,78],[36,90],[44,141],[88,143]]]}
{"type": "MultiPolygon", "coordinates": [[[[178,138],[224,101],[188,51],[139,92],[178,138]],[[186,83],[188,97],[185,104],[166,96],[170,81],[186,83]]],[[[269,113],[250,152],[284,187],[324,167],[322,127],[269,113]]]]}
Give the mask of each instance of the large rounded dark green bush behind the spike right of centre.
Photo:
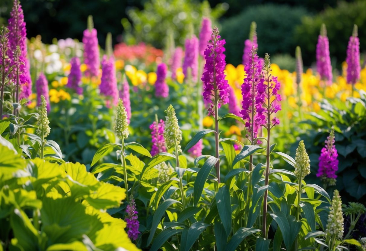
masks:
{"type": "Polygon", "coordinates": [[[257,23],[258,55],[264,57],[277,53],[293,53],[296,44],[292,39],[295,26],[309,13],[300,7],[266,4],[249,7],[237,16],[222,22],[221,37],[226,40],[227,62],[242,63],[244,41],[249,38],[250,23],[257,23]]]}

